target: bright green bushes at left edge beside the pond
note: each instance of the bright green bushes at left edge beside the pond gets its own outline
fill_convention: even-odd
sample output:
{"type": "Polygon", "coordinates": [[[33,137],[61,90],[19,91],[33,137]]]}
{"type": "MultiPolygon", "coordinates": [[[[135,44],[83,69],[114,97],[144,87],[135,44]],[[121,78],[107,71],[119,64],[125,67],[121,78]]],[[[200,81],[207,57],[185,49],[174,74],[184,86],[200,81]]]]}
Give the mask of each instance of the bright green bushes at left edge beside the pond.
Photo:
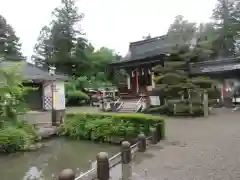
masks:
{"type": "Polygon", "coordinates": [[[18,71],[21,64],[0,69],[0,151],[25,150],[37,140],[35,129],[18,119],[27,111],[24,96],[32,88],[24,87],[18,71]]]}

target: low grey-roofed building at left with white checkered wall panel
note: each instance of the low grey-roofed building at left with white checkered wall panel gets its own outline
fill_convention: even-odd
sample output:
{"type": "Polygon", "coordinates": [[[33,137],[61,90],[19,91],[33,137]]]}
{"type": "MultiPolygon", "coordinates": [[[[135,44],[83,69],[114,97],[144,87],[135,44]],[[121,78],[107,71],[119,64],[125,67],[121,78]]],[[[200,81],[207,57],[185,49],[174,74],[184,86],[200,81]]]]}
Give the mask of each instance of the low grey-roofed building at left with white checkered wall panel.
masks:
{"type": "MultiPolygon", "coordinates": [[[[19,62],[3,61],[0,63],[0,68],[14,67],[17,64],[19,62]]],[[[51,76],[47,70],[25,61],[22,62],[19,70],[24,80],[31,80],[31,82],[24,83],[23,85],[36,88],[36,90],[30,91],[26,96],[26,101],[31,110],[42,111],[52,109],[51,101],[53,93],[51,92],[51,85],[54,85],[54,91],[57,91],[58,87],[63,89],[62,96],[64,97],[63,103],[65,109],[64,81],[67,80],[67,76],[61,74],[51,76]]],[[[57,99],[57,97],[55,98],[57,99]]]]}

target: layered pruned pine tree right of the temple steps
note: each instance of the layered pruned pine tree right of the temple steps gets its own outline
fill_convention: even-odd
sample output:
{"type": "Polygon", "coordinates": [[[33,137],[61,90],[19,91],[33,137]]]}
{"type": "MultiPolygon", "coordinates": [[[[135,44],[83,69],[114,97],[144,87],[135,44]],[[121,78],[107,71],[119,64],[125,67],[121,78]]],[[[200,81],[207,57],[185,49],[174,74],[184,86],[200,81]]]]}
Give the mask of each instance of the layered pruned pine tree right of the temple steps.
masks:
{"type": "Polygon", "coordinates": [[[202,115],[203,92],[209,93],[209,105],[216,103],[220,95],[217,83],[209,78],[190,78],[187,47],[178,47],[166,58],[164,66],[156,66],[153,71],[161,100],[160,113],[168,115],[202,115]]]}

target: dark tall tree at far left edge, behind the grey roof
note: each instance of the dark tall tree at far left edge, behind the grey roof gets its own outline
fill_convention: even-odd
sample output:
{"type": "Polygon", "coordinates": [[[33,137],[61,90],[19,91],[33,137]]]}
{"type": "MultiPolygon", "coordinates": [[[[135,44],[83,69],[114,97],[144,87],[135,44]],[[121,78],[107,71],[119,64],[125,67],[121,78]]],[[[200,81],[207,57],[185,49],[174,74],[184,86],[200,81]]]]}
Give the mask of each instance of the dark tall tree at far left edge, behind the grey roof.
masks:
{"type": "Polygon", "coordinates": [[[21,44],[13,27],[0,15],[0,56],[4,60],[21,61],[21,44]]]}

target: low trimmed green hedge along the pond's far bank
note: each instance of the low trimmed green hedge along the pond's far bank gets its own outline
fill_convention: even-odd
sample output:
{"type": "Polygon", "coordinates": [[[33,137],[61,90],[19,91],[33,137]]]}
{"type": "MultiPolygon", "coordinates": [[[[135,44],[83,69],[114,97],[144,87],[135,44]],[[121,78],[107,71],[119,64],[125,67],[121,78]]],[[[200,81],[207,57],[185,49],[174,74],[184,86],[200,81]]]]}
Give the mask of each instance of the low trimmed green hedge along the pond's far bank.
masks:
{"type": "Polygon", "coordinates": [[[74,113],[68,114],[62,134],[73,139],[111,142],[114,137],[136,138],[141,132],[148,135],[150,127],[162,123],[162,137],[165,137],[164,119],[144,114],[117,113],[74,113]]]}

